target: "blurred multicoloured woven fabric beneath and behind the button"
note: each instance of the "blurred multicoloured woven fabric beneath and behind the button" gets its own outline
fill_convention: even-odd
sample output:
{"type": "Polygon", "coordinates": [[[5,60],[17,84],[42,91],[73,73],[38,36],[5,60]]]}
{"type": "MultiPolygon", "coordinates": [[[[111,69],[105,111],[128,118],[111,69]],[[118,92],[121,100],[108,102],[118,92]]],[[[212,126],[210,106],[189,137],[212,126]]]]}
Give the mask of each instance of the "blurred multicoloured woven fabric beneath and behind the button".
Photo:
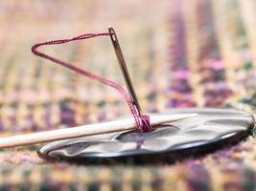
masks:
{"type": "MultiPolygon", "coordinates": [[[[117,92],[36,57],[38,42],[115,28],[143,110],[234,107],[255,114],[252,0],[0,1],[0,137],[128,116],[117,92]]],[[[124,84],[110,39],[43,48],[124,84]]],[[[38,145],[0,150],[0,190],[255,190],[253,137],[155,166],[50,163],[38,145]]]]}

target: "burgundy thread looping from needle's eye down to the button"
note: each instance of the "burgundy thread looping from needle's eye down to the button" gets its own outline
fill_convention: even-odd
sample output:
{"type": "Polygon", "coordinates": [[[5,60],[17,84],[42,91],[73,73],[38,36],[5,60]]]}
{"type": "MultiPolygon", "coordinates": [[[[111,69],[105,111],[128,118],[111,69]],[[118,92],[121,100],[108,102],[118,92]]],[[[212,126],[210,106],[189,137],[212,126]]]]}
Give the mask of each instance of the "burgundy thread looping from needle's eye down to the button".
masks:
{"type": "Polygon", "coordinates": [[[116,89],[123,96],[123,98],[126,100],[126,102],[128,103],[129,110],[130,110],[132,116],[135,119],[138,132],[140,132],[140,133],[150,132],[151,131],[150,117],[145,116],[145,115],[140,115],[138,113],[133,101],[128,96],[128,93],[119,84],[117,84],[117,83],[115,83],[115,82],[113,82],[109,79],[106,79],[105,77],[102,77],[102,76],[99,76],[99,75],[96,75],[96,74],[92,74],[89,71],[83,70],[83,69],[73,65],[72,63],[61,61],[58,58],[55,58],[55,57],[53,57],[51,55],[48,55],[46,53],[41,53],[41,52],[36,50],[38,47],[41,47],[41,46],[58,45],[58,44],[68,43],[68,42],[71,42],[71,41],[77,41],[77,40],[92,38],[92,37],[96,37],[96,36],[108,36],[108,35],[110,35],[108,32],[85,33],[85,34],[79,35],[79,36],[74,37],[74,38],[61,39],[61,40],[51,40],[51,41],[47,41],[47,42],[43,42],[43,43],[37,43],[32,47],[32,52],[35,53],[35,55],[37,55],[37,56],[48,59],[48,60],[50,60],[52,62],[55,62],[55,63],[57,63],[57,64],[59,64],[63,67],[68,68],[69,70],[72,70],[76,73],[85,75],[85,76],[87,76],[91,79],[98,80],[101,83],[116,89]]]}

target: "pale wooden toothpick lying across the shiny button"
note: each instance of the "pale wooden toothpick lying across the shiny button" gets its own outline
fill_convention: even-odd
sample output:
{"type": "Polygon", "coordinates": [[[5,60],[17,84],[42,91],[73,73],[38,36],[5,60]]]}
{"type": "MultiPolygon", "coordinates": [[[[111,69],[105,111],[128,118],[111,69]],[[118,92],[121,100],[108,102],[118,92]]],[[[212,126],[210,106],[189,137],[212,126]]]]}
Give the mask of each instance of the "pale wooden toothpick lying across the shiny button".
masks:
{"type": "MultiPolygon", "coordinates": [[[[152,115],[151,125],[159,125],[175,120],[185,119],[188,117],[195,117],[197,114],[182,114],[182,115],[152,115]]],[[[81,125],[78,127],[58,129],[53,131],[38,132],[32,134],[25,134],[19,136],[12,136],[9,138],[0,138],[0,148],[10,148],[15,146],[24,146],[35,143],[49,142],[53,140],[81,138],[86,136],[94,136],[106,133],[127,131],[135,129],[135,122],[133,118],[115,120],[102,123],[94,123],[88,125],[81,125]]]]}

